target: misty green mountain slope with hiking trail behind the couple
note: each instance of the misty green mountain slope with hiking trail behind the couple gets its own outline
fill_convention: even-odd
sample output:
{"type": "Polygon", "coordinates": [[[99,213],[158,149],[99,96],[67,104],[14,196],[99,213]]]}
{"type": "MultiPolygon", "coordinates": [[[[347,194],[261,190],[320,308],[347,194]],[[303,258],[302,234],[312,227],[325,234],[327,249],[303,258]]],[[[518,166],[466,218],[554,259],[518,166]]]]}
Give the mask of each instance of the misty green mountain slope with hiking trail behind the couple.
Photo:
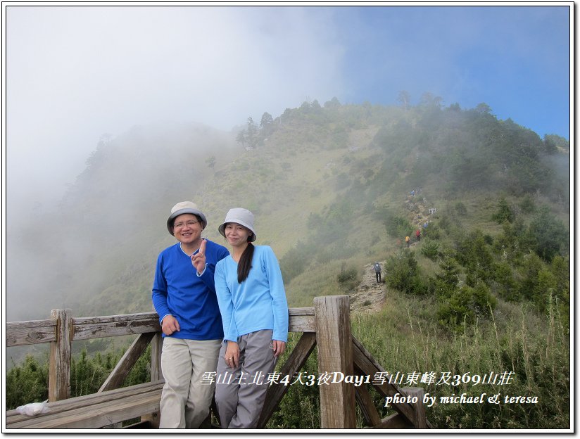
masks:
{"type": "MultiPolygon", "coordinates": [[[[205,236],[220,243],[227,210],[245,207],[256,215],[257,243],[279,258],[291,307],[350,294],[364,267],[385,261],[383,309],[355,310],[352,326],[387,370],[438,378],[512,371],[504,387],[419,385],[438,397],[539,400],[434,405],[427,413],[437,426],[567,428],[569,142],[541,139],[487,106],[333,100],[263,120],[248,120],[241,133],[136,127],[99,145],[46,218],[49,238],[20,236],[24,254],[34,246],[47,261],[20,288],[50,293],[37,315],[19,318],[46,318],[56,307],[83,316],[150,311],[156,257],[175,242],[165,229],[171,206],[198,203],[205,236]]],[[[9,306],[18,302],[10,294],[9,306]]],[[[315,396],[291,388],[282,412],[297,416],[275,416],[270,427],[315,426],[315,396]]]]}

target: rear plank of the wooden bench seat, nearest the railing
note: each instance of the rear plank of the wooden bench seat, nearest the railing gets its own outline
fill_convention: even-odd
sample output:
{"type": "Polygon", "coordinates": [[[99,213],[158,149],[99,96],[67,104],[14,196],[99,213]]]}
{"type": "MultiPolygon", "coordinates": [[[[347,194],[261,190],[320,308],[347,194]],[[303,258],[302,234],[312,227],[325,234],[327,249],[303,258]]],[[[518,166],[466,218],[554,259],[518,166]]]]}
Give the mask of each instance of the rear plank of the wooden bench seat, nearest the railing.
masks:
{"type": "Polygon", "coordinates": [[[6,412],[6,424],[16,424],[18,422],[31,419],[43,419],[49,416],[56,416],[58,414],[68,412],[72,409],[84,409],[85,411],[90,412],[90,407],[92,405],[99,405],[101,403],[114,403],[115,401],[122,398],[132,397],[135,395],[139,396],[147,393],[159,393],[160,395],[163,384],[163,381],[135,384],[134,386],[106,390],[101,393],[92,393],[90,395],[68,398],[68,400],[49,402],[48,407],[50,412],[39,414],[33,418],[31,416],[26,416],[25,414],[19,414],[15,409],[8,410],[8,412],[6,412]]]}

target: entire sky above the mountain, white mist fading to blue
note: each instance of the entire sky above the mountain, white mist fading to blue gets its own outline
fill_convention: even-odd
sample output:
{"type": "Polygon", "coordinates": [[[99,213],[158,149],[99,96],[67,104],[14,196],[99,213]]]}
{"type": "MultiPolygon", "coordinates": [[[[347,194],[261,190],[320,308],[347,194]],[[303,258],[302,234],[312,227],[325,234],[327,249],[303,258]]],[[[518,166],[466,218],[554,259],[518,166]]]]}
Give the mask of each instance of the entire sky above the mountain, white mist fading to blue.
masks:
{"type": "Polygon", "coordinates": [[[484,102],[569,139],[571,2],[130,5],[3,3],[9,200],[58,199],[103,134],[190,121],[229,131],[334,96],[484,102]]]}

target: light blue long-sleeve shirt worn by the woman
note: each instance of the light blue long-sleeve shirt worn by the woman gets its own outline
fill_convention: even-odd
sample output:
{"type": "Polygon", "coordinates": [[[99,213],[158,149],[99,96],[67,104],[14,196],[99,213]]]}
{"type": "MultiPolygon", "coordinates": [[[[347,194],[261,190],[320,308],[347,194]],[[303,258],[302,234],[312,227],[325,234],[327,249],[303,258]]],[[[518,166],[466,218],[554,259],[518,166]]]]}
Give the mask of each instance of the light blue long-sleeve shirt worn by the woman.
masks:
{"type": "Polygon", "coordinates": [[[254,246],[248,278],[238,283],[238,264],[231,255],[215,266],[215,291],[224,339],[272,329],[272,339],[288,341],[288,303],[282,272],[270,246],[254,246]]]}

